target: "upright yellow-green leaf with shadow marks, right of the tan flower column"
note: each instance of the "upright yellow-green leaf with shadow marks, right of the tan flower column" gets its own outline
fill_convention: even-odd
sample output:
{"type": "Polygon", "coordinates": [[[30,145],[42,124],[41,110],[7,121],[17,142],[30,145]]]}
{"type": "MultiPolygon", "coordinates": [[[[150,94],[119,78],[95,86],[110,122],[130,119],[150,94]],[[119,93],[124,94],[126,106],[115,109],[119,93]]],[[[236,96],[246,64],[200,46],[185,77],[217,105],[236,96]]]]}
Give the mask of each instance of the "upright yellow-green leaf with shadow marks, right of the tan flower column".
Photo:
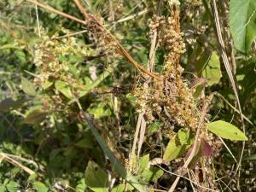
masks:
{"type": "Polygon", "coordinates": [[[218,84],[218,81],[221,79],[220,63],[216,52],[212,52],[206,67],[204,67],[204,70],[202,71],[202,76],[209,79],[207,84],[210,86],[212,86],[212,84],[218,84]]]}

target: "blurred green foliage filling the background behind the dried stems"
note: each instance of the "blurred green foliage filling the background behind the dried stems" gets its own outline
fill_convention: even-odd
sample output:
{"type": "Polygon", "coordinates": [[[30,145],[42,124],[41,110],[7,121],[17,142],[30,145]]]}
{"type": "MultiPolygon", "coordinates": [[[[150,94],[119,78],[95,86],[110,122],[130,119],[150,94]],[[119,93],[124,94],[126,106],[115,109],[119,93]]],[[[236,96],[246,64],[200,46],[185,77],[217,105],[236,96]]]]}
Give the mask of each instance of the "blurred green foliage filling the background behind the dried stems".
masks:
{"type": "MultiPolygon", "coordinates": [[[[42,2],[69,15],[83,18],[73,1],[42,2]]],[[[156,13],[156,1],[131,0],[120,3],[120,1],[113,0],[113,7],[116,9],[115,20],[136,14],[144,9],[148,9],[148,13],[126,22],[116,23],[112,27],[108,1],[88,0],[84,2],[89,3],[88,7],[92,13],[101,15],[107,20],[108,28],[115,33],[133,58],[142,63],[143,67],[147,67],[150,48],[148,19],[156,13]]],[[[202,1],[202,3],[190,6],[189,2],[193,1],[180,2],[180,22],[186,43],[186,52],[182,56],[181,63],[185,72],[188,72],[188,75],[184,75],[185,78],[192,81],[189,73],[195,73],[201,78],[209,79],[204,90],[205,94],[209,95],[217,91],[225,100],[236,106],[235,96],[221,60],[221,49],[212,20],[211,3],[202,1]],[[202,26],[206,28],[202,29],[202,26]],[[188,42],[191,39],[194,41],[190,44],[188,42]]],[[[253,180],[255,158],[247,157],[253,157],[252,155],[256,154],[254,128],[256,124],[256,57],[253,48],[256,18],[253,15],[253,8],[255,11],[256,5],[253,0],[241,2],[242,8],[237,1],[230,1],[230,30],[237,48],[234,51],[241,107],[244,115],[251,121],[251,124],[248,122],[246,124],[249,142],[246,143],[242,160],[241,189],[253,191],[256,189],[256,183],[253,180]],[[242,11],[251,16],[244,18],[245,13],[242,11]],[[247,22],[249,23],[244,31],[239,31],[238,29],[247,22]]],[[[221,6],[221,1],[218,1],[218,4],[221,6]]],[[[219,11],[220,14],[224,13],[222,9],[219,11]]],[[[167,12],[168,9],[165,9],[164,14],[167,15],[167,12]]],[[[2,153],[0,156],[0,191],[16,191],[17,189],[39,192],[61,191],[61,189],[108,191],[108,173],[111,172],[113,177],[117,177],[117,173],[113,172],[111,163],[106,160],[90,127],[79,121],[79,108],[72,101],[71,91],[78,93],[84,110],[92,114],[101,127],[102,130],[98,131],[101,132],[102,138],[125,165],[127,163],[125,158],[127,159],[129,150],[131,150],[137,124],[136,98],[131,93],[133,88],[139,84],[137,82],[139,82],[140,74],[123,58],[108,51],[108,47],[97,46],[94,39],[90,37],[91,34],[81,32],[84,26],[73,20],[48,13],[44,9],[38,9],[38,18],[41,38],[38,36],[34,5],[20,0],[0,2],[0,99],[2,101],[0,102],[0,151],[2,153]],[[73,38],[58,38],[73,32],[81,33],[73,38]],[[61,80],[59,82],[49,80],[49,84],[40,87],[37,82],[33,81],[35,77],[42,75],[43,71],[35,65],[35,45],[44,44],[45,38],[49,37],[57,37],[54,45],[56,47],[59,44],[73,42],[70,44],[73,44],[74,49],[69,50],[72,54],[57,55],[61,63],[67,64],[67,71],[61,71],[59,78],[61,80]],[[90,60],[91,58],[94,59],[90,60]],[[91,67],[96,70],[96,81],[91,78],[91,67]],[[72,74],[73,81],[70,81],[67,73],[72,74]],[[79,84],[85,88],[80,89],[79,84]],[[55,91],[61,97],[60,103],[57,99],[53,99],[55,91]],[[119,108],[116,108],[115,98],[118,98],[119,108]],[[48,113],[43,112],[44,108],[49,109],[48,113]],[[50,113],[51,111],[54,113],[50,113]],[[14,166],[6,158],[3,160],[4,154],[12,154],[13,156],[9,156],[12,160],[16,160],[19,165],[26,166],[31,172],[24,171],[20,166],[14,166]]],[[[155,71],[158,73],[164,70],[165,51],[160,48],[155,55],[155,71]]],[[[202,87],[199,86],[198,89],[200,95],[202,87]]],[[[241,125],[239,114],[235,113],[233,108],[218,96],[214,98],[208,115],[211,120],[224,119],[237,127],[241,125]]],[[[148,125],[148,137],[153,137],[157,131],[160,131],[160,127],[161,122],[148,125]]],[[[185,134],[189,133],[185,132],[185,134]]],[[[164,137],[166,146],[168,141],[168,137],[164,137]]],[[[152,143],[154,143],[154,137],[151,143],[143,144],[142,157],[138,160],[137,175],[140,176],[139,181],[142,185],[150,186],[150,189],[161,189],[160,185],[166,184],[163,181],[164,172],[158,166],[148,166],[149,160],[153,160],[162,153],[160,146],[157,146],[160,144],[154,143],[156,147],[151,147],[152,143]]],[[[238,159],[241,143],[227,141],[226,144],[238,159]]],[[[179,147],[188,148],[185,145],[179,147]]],[[[235,161],[225,148],[221,150],[218,150],[218,146],[212,148],[212,165],[214,165],[212,167],[216,171],[212,172],[212,175],[215,179],[224,176],[223,182],[228,183],[229,174],[233,171],[230,167],[235,164],[235,161]]],[[[167,156],[168,154],[166,154],[167,160],[177,158],[177,155],[167,156]]],[[[186,184],[188,183],[183,182],[183,185],[186,184]]],[[[219,185],[224,186],[223,183],[219,185]]],[[[165,187],[170,186],[165,185],[165,187]]],[[[112,191],[124,191],[125,189],[134,190],[130,184],[125,186],[123,180],[118,179],[112,191]]]]}

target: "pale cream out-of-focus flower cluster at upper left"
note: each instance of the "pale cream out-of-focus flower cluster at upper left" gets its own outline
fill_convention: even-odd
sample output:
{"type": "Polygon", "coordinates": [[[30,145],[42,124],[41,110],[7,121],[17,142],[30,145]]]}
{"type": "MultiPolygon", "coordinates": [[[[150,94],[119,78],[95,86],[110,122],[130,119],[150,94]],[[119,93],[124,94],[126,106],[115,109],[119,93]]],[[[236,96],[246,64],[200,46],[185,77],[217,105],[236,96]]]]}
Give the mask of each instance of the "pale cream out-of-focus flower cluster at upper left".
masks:
{"type": "Polygon", "coordinates": [[[61,79],[74,83],[70,63],[73,61],[75,66],[81,57],[94,55],[94,51],[79,44],[77,38],[43,38],[41,44],[35,45],[34,63],[40,72],[35,81],[44,84],[49,79],[61,79]]]}

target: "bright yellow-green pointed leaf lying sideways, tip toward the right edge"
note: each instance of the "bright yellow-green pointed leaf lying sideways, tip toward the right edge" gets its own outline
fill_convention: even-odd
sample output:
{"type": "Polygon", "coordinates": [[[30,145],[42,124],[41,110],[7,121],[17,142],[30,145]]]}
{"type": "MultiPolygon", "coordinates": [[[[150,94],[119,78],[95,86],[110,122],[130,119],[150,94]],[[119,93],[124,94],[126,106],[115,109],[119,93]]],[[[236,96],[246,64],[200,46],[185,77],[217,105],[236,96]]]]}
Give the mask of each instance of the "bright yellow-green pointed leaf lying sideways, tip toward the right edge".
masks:
{"type": "Polygon", "coordinates": [[[223,120],[214,121],[207,124],[207,130],[212,131],[218,137],[231,140],[247,141],[247,137],[236,126],[223,120]]]}

